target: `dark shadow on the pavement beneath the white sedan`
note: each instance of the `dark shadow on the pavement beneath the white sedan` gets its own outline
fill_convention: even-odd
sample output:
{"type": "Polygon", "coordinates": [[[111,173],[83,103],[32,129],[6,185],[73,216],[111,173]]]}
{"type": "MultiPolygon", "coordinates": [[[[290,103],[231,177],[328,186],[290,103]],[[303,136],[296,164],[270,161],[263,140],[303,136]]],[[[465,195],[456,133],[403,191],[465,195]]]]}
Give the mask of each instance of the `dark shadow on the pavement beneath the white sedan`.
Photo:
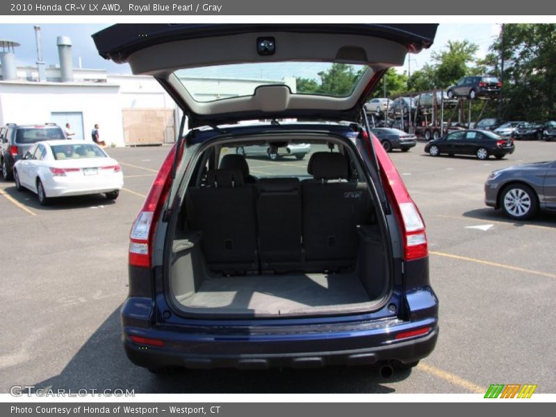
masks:
{"type": "Polygon", "coordinates": [[[56,197],[51,199],[47,206],[41,206],[37,195],[30,190],[17,191],[15,185],[4,186],[4,193],[15,201],[30,208],[31,210],[71,210],[73,208],[90,208],[94,206],[111,206],[116,202],[104,197],[104,194],[76,195],[73,197],[56,197]]]}

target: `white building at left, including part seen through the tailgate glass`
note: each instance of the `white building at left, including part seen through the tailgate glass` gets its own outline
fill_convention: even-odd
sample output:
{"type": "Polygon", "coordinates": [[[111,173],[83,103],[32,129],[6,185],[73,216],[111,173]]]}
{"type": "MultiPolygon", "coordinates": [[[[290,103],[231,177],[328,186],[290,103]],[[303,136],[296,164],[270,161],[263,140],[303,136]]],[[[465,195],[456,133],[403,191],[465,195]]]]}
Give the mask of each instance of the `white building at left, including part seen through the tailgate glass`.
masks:
{"type": "MultiPolygon", "coordinates": [[[[71,124],[74,138],[91,140],[99,124],[108,145],[174,142],[181,112],[151,76],[107,74],[104,70],[70,68],[72,81],[62,81],[60,67],[17,67],[12,79],[0,80],[0,124],[71,124]],[[40,79],[42,78],[42,79],[40,79]]],[[[67,70],[67,69],[66,69],[67,70]]],[[[0,73],[4,74],[3,69],[0,73]]],[[[295,79],[190,78],[200,100],[252,94],[261,83],[290,85],[295,79]]]]}

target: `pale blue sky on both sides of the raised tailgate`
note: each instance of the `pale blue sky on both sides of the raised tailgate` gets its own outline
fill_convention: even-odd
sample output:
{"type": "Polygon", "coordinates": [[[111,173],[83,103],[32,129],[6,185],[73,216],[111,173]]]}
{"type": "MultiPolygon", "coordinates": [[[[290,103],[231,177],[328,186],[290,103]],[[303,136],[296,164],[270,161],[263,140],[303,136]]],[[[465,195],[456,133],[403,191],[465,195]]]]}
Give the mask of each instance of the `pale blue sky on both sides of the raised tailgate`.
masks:
{"type": "MultiPolygon", "coordinates": [[[[79,67],[79,57],[83,68],[104,69],[111,73],[129,73],[127,64],[119,65],[104,60],[97,53],[91,35],[109,26],[108,24],[39,24],[42,38],[43,60],[47,65],[58,65],[56,38],[69,36],[73,44],[74,67],[79,67]]],[[[434,45],[420,54],[409,55],[411,72],[430,62],[432,51],[440,51],[448,40],[469,40],[479,45],[478,56],[483,58],[490,44],[498,35],[498,24],[440,24],[434,45]]],[[[15,49],[17,65],[35,65],[37,49],[33,24],[0,24],[0,39],[19,42],[21,47],[15,49]]],[[[399,70],[407,71],[408,59],[399,70]]],[[[304,76],[307,76],[304,74],[304,76]]]]}

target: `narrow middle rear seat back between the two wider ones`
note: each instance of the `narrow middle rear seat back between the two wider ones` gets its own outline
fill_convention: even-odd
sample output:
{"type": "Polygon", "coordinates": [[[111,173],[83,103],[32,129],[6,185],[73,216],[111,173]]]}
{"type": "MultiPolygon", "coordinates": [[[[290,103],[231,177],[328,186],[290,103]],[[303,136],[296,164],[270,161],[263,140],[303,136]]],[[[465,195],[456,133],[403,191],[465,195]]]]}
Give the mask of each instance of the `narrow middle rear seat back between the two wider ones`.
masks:
{"type": "Polygon", "coordinates": [[[300,180],[263,178],[256,202],[262,272],[302,269],[300,180]]]}

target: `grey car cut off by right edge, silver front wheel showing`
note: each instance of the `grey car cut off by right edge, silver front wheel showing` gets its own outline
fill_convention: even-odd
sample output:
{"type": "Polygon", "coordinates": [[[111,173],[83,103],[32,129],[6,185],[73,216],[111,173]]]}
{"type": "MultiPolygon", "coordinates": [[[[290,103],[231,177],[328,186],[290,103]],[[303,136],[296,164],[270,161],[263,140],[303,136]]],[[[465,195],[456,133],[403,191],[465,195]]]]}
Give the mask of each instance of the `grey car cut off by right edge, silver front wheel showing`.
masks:
{"type": "Polygon", "coordinates": [[[539,210],[556,212],[556,161],[525,163],[491,172],[484,203],[509,218],[527,220],[539,210]]]}

